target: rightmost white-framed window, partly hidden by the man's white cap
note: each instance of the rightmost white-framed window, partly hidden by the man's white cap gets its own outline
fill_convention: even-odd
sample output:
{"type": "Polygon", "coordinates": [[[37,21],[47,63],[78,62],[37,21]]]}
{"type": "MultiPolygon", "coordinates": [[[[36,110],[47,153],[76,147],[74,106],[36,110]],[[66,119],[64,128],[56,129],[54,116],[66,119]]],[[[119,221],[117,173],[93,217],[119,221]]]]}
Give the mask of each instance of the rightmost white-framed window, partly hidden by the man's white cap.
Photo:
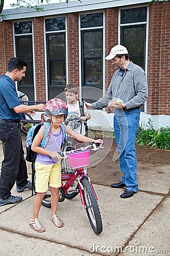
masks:
{"type": "Polygon", "coordinates": [[[147,7],[121,9],[119,20],[120,43],[128,49],[130,60],[146,71],[147,7]]]}

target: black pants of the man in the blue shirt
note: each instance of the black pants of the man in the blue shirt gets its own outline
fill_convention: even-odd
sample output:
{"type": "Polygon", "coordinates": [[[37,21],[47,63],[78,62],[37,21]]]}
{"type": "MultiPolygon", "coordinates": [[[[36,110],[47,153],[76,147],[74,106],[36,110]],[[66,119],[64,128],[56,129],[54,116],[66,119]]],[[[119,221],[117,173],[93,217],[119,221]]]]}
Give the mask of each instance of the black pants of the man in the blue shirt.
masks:
{"type": "Polygon", "coordinates": [[[0,139],[2,141],[4,159],[1,167],[0,197],[7,199],[15,184],[27,184],[27,165],[24,159],[22,137],[19,123],[0,121],[0,139]]]}

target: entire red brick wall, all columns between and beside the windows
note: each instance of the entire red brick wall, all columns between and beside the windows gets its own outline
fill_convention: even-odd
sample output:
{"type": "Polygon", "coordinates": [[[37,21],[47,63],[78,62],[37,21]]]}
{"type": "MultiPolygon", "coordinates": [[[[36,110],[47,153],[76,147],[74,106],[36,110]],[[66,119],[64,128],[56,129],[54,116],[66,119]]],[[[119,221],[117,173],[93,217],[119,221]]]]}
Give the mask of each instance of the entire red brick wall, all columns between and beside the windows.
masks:
{"type": "MultiPolygon", "coordinates": [[[[147,114],[170,115],[170,2],[150,5],[148,25],[148,100],[147,114]]],[[[97,10],[96,10],[97,11],[97,10]]],[[[45,101],[44,17],[33,18],[35,48],[35,81],[38,101],[45,101]]],[[[5,73],[8,60],[14,56],[12,20],[0,23],[0,72],[5,73]]],[[[118,42],[118,8],[105,9],[105,56],[118,42]]],[[[67,14],[68,81],[79,86],[78,13],[67,14]]],[[[114,72],[111,61],[105,61],[105,92],[114,72]]]]}

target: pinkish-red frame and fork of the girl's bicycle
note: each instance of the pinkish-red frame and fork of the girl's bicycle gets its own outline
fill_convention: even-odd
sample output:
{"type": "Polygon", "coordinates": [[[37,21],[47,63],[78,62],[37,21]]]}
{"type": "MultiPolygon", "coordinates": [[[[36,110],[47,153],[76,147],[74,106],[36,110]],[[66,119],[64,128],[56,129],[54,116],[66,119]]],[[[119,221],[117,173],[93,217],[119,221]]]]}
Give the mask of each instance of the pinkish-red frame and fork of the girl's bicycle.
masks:
{"type": "MultiPolygon", "coordinates": [[[[62,189],[63,191],[65,192],[65,195],[67,193],[67,190],[71,187],[71,185],[74,183],[74,181],[76,180],[76,178],[78,178],[78,186],[79,186],[79,192],[80,192],[80,199],[82,201],[82,204],[85,205],[85,201],[84,201],[84,196],[83,196],[83,185],[82,183],[80,182],[81,179],[83,179],[83,177],[87,177],[88,181],[90,182],[91,184],[91,187],[94,191],[94,194],[95,194],[95,197],[96,197],[96,200],[97,200],[97,195],[96,195],[96,192],[95,192],[95,189],[91,183],[91,180],[90,180],[90,177],[86,174],[84,174],[84,170],[83,168],[78,168],[76,169],[73,173],[71,174],[62,174],[61,175],[61,181],[67,181],[64,185],[62,183],[62,189]],[[79,177],[78,177],[79,176],[79,177]]],[[[69,191],[71,192],[71,191],[69,191]]]]}

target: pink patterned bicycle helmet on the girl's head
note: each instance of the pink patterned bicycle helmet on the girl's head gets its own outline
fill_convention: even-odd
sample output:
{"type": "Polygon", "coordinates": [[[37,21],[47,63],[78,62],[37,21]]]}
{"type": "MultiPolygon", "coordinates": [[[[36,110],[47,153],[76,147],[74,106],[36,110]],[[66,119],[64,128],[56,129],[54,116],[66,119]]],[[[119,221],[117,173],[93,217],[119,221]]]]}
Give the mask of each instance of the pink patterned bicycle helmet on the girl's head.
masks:
{"type": "Polygon", "coordinates": [[[64,101],[59,98],[52,98],[45,104],[45,112],[48,115],[62,115],[67,114],[67,107],[64,101]]]}

